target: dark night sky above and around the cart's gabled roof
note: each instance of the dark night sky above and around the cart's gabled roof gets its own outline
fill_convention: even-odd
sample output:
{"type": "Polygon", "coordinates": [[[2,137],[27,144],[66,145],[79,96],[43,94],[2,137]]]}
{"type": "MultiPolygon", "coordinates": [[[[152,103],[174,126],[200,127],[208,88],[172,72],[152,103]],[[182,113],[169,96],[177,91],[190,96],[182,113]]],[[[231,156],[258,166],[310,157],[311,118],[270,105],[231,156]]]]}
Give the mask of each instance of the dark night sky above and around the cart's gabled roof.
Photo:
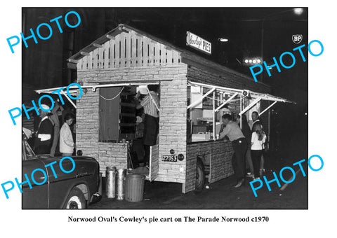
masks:
{"type": "MultiPolygon", "coordinates": [[[[50,39],[40,40],[36,45],[30,40],[29,48],[22,50],[24,85],[31,85],[34,89],[67,85],[76,76],[74,73],[70,75],[66,59],[120,23],[163,38],[248,76],[251,76],[249,67],[239,62],[244,57],[260,57],[262,26],[263,52],[267,62],[297,46],[291,41],[293,34],[303,34],[303,43],[308,43],[308,8],[304,8],[301,15],[294,14],[293,8],[23,8],[23,32],[36,29],[40,23],[58,15],[64,16],[70,10],[81,15],[81,25],[73,29],[74,32],[61,21],[63,34],[53,27],[50,39]],[[211,41],[212,55],[186,46],[186,31],[211,41]],[[220,43],[219,37],[230,41],[220,43]]],[[[272,69],[272,77],[265,74],[264,83],[272,85],[274,94],[297,102],[303,99],[303,94],[308,94],[308,62],[300,64],[298,61],[293,69],[284,69],[282,73],[272,69]],[[289,92],[286,90],[289,87],[301,92],[289,92]],[[297,94],[301,96],[297,97],[297,94]]]]}

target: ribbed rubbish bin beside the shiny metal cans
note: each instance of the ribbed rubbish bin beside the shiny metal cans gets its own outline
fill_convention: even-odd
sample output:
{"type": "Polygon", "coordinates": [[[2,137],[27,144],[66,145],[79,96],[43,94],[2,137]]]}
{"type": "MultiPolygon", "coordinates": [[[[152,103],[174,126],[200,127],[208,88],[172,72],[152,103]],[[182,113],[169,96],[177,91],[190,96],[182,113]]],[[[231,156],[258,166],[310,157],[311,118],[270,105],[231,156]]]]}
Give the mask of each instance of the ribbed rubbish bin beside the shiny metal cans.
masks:
{"type": "Polygon", "coordinates": [[[126,195],[128,202],[140,202],[144,195],[145,175],[126,174],[126,195]]]}

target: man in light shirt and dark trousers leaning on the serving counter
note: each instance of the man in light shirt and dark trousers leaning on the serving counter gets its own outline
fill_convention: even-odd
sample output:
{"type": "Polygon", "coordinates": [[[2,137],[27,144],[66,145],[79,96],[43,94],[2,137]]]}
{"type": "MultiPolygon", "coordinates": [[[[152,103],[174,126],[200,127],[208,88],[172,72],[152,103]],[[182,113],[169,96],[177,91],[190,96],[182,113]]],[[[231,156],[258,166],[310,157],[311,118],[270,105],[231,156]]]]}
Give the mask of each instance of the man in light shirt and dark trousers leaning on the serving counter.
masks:
{"type": "Polygon", "coordinates": [[[239,125],[232,121],[232,116],[225,114],[223,115],[222,120],[223,124],[225,125],[225,129],[220,133],[219,139],[223,139],[225,136],[227,136],[232,142],[232,147],[234,149],[232,166],[234,169],[234,174],[237,177],[237,184],[234,185],[234,188],[239,188],[244,184],[247,141],[239,125]]]}

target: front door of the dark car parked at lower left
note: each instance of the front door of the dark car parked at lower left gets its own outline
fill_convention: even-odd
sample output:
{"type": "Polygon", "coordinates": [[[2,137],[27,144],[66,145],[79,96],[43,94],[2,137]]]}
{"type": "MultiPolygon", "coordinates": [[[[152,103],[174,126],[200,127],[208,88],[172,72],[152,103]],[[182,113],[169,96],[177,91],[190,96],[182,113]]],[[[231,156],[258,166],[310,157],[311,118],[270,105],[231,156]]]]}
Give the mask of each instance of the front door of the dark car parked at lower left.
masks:
{"type": "Polygon", "coordinates": [[[45,178],[45,174],[41,171],[34,173],[34,180],[37,183],[43,185],[37,185],[32,181],[32,172],[34,169],[44,169],[44,163],[37,158],[34,154],[27,154],[29,148],[26,148],[26,141],[22,142],[22,182],[26,181],[25,174],[32,184],[32,188],[29,188],[28,183],[22,185],[22,209],[47,209],[48,208],[48,178],[45,178]]]}

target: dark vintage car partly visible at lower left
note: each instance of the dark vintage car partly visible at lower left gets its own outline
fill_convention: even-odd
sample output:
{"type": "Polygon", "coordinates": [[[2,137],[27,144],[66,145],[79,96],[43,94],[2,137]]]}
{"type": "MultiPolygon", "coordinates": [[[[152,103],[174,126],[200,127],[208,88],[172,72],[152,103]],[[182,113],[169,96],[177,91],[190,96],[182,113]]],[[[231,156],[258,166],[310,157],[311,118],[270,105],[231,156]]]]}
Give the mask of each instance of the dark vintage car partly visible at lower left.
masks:
{"type": "Polygon", "coordinates": [[[22,132],[22,182],[25,174],[29,178],[32,188],[28,183],[22,184],[22,209],[85,209],[89,203],[97,202],[101,196],[98,194],[100,183],[100,167],[94,158],[86,156],[72,156],[75,162],[74,171],[70,173],[73,164],[71,160],[62,161],[62,157],[50,155],[35,155],[27,143],[26,134],[22,132]],[[55,162],[55,163],[53,163],[55,162]],[[53,163],[53,167],[47,166],[53,163]],[[34,169],[44,169],[34,172],[34,169]],[[57,178],[55,178],[55,174],[57,178]],[[46,179],[46,182],[43,181],[46,179]],[[43,183],[37,185],[36,183],[43,183]]]}

